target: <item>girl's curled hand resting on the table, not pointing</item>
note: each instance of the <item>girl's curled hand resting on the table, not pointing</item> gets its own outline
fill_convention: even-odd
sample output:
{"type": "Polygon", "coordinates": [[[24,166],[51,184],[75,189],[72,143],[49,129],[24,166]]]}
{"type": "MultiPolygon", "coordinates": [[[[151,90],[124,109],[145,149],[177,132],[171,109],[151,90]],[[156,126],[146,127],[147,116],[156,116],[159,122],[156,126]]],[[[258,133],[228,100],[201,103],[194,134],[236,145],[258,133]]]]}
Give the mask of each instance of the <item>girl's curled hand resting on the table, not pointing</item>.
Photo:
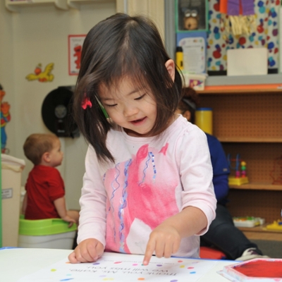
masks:
{"type": "Polygon", "coordinates": [[[83,240],[78,247],[68,256],[72,264],[79,262],[95,262],[104,253],[104,245],[96,239],[83,240]]]}

